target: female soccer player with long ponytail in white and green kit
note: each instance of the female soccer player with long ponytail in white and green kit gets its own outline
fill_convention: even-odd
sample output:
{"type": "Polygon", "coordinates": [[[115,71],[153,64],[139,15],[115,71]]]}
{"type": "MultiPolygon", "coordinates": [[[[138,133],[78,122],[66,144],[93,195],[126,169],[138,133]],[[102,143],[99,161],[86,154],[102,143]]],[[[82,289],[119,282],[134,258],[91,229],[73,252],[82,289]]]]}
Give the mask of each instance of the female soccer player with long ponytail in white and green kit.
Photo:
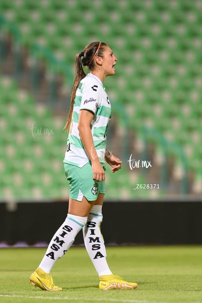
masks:
{"type": "Polygon", "coordinates": [[[112,274],[100,230],[105,194],[104,163],[111,166],[112,173],[121,169],[121,160],[106,150],[111,105],[103,86],[105,77],[115,74],[116,61],[111,48],[101,42],[88,44],[76,56],[76,76],[65,125],[67,151],[63,161],[70,186],[68,214],[30,277],[30,283],[43,290],[61,290],[54,285],[50,271],[70,248],[81,228],[86,250],[99,275],[99,288],[134,289],[138,286],[112,274]],[[82,66],[89,68],[87,75],[82,66]]]}

